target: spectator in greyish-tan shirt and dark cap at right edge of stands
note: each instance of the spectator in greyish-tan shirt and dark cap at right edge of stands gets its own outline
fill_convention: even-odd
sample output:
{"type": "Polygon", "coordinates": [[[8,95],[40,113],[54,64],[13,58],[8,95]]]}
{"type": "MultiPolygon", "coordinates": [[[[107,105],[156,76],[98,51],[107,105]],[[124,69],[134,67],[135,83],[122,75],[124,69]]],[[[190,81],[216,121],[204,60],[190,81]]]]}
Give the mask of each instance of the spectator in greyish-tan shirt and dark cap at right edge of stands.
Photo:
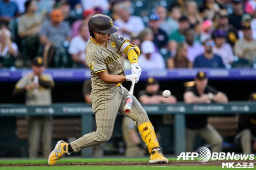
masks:
{"type": "Polygon", "coordinates": [[[242,26],[243,39],[236,41],[234,53],[241,59],[248,60],[248,64],[256,63],[256,40],[252,39],[252,32],[249,23],[242,26]]]}

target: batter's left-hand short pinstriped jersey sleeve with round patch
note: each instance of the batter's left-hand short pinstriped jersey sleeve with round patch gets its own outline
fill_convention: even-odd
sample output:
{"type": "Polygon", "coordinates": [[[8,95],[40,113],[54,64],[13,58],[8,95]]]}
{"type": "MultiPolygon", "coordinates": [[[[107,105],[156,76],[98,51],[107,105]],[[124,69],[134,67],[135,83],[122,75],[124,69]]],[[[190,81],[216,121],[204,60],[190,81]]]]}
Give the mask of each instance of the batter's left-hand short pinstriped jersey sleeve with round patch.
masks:
{"type": "Polygon", "coordinates": [[[95,73],[107,70],[103,58],[95,52],[87,52],[85,54],[85,60],[90,70],[95,73]]]}

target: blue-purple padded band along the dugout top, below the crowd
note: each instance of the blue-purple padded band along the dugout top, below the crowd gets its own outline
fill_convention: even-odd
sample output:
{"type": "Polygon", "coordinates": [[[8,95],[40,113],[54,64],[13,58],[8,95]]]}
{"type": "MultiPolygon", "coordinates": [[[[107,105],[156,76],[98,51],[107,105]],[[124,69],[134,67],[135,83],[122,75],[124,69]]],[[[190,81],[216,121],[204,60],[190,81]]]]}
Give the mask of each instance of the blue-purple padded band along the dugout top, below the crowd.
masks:
{"type": "MultiPolygon", "coordinates": [[[[256,80],[256,69],[252,68],[233,68],[233,69],[209,69],[209,68],[177,68],[162,70],[143,70],[140,80],[146,80],[147,77],[155,77],[158,80],[187,80],[193,79],[197,71],[203,70],[211,80],[256,80]]],[[[18,81],[21,76],[31,71],[31,69],[0,69],[0,82],[18,81]]],[[[83,81],[89,79],[89,69],[46,69],[54,81],[83,81]]],[[[130,74],[127,70],[126,74],[130,74]]]]}

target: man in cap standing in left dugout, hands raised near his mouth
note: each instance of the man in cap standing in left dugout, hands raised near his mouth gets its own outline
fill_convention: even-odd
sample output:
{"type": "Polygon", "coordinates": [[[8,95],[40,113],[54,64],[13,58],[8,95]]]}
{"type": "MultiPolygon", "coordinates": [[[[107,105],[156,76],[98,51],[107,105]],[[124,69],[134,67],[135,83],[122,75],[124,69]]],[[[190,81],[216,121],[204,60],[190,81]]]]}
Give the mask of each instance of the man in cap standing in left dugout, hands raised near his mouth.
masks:
{"type": "MultiPolygon", "coordinates": [[[[54,82],[50,74],[43,73],[44,66],[41,57],[32,61],[32,72],[25,74],[15,85],[13,95],[25,94],[25,104],[28,106],[51,104],[51,88],[54,82]]],[[[39,142],[42,143],[43,157],[51,150],[52,117],[27,117],[28,154],[29,158],[38,157],[39,142]],[[40,140],[40,136],[42,137],[40,140]]]]}

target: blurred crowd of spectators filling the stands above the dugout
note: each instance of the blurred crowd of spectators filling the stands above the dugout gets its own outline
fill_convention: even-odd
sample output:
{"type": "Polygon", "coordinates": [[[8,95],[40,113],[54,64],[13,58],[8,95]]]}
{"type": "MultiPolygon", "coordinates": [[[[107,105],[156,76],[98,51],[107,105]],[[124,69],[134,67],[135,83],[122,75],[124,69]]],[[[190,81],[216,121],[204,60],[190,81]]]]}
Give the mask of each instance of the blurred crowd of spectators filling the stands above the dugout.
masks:
{"type": "Polygon", "coordinates": [[[0,0],[0,67],[87,67],[97,13],[140,47],[142,69],[256,68],[256,0],[0,0]]]}

